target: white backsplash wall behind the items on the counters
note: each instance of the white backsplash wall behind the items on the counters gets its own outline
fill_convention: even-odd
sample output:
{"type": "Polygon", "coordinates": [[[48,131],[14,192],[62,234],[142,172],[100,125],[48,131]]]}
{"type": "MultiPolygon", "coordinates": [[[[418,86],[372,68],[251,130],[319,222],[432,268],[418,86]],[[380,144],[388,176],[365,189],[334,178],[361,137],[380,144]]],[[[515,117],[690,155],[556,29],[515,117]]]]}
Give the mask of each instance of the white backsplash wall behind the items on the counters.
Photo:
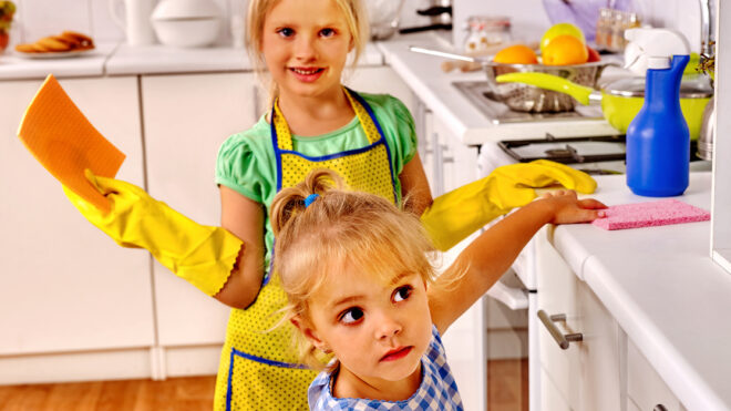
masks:
{"type": "MultiPolygon", "coordinates": [[[[89,33],[97,42],[124,41],[124,32],[110,14],[110,0],[14,1],[18,13],[11,31],[11,44],[32,42],[63,30],[89,33]]],[[[150,1],[156,3],[158,0],[150,1]]],[[[229,19],[231,16],[243,16],[248,0],[210,1],[226,16],[216,44],[230,44],[229,19]]],[[[535,12],[543,10],[543,2],[544,0],[453,0],[454,42],[462,43],[464,21],[471,14],[508,16],[513,21],[513,33],[518,40],[537,40],[549,25],[545,13],[535,12]]],[[[116,3],[120,10],[123,10],[123,0],[116,0],[116,3]]],[[[418,16],[415,10],[426,9],[430,4],[431,0],[405,0],[401,13],[402,27],[428,24],[429,18],[418,16]]],[[[645,23],[677,29],[686,34],[694,51],[700,50],[699,0],[632,0],[632,4],[645,23]]]]}

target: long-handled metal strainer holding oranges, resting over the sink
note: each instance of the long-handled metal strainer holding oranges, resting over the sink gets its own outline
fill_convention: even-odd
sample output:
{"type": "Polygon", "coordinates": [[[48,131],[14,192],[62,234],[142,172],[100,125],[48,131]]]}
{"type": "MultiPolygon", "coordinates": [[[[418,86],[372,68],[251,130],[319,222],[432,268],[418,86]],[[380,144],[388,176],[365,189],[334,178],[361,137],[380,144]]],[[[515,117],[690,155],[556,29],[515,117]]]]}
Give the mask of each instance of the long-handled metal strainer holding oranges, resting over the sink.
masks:
{"type": "Polygon", "coordinates": [[[558,113],[574,110],[576,100],[572,96],[552,90],[545,90],[524,83],[498,83],[495,78],[507,73],[546,73],[566,79],[575,84],[597,88],[597,81],[607,65],[616,65],[597,61],[593,63],[573,65],[544,65],[544,64],[505,64],[496,63],[484,58],[446,53],[419,47],[409,50],[436,55],[445,59],[462,60],[482,64],[491,97],[504,103],[508,107],[526,113],[558,113]]]}

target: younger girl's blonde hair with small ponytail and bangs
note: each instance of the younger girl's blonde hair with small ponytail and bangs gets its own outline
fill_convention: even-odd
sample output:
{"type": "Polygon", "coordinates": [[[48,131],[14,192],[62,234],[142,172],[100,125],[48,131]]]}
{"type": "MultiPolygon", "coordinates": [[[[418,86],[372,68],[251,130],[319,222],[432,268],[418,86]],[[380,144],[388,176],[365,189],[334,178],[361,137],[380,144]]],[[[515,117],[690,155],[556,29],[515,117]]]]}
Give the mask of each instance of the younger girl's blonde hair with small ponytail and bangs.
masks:
{"type": "MultiPolygon", "coordinates": [[[[316,169],[302,183],[279,192],[270,217],[275,273],[289,300],[287,319],[309,320],[308,301],[343,264],[379,280],[418,273],[426,284],[433,282],[428,255],[434,248],[419,218],[378,195],[342,189],[331,171],[316,169]],[[306,206],[310,194],[319,196],[306,206]]],[[[323,353],[300,332],[295,339],[300,359],[321,369],[323,353]]]]}

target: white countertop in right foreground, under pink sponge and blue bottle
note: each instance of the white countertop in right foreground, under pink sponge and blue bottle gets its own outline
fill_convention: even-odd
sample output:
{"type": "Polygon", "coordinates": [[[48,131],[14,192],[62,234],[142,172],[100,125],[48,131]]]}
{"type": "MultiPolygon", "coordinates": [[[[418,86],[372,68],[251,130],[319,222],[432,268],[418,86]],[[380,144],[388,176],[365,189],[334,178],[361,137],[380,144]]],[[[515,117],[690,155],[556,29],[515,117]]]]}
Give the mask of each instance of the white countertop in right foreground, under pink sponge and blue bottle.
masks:
{"type": "MultiPolygon", "coordinates": [[[[597,176],[607,205],[656,201],[597,176]]],[[[711,173],[677,197],[710,210],[711,173]]],[[[710,257],[710,222],[607,232],[563,225],[553,244],[689,410],[731,409],[731,275],[710,257]]]]}

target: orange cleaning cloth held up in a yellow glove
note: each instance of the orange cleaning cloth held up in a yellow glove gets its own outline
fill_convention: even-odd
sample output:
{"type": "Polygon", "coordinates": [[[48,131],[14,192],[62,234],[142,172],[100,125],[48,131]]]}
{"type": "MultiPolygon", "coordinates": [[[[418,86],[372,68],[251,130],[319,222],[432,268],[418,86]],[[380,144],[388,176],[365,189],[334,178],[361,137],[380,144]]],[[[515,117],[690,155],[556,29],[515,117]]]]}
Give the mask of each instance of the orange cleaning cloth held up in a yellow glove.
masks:
{"type": "Polygon", "coordinates": [[[25,109],[18,136],[63,185],[99,209],[111,209],[109,199],[86,179],[84,169],[112,178],[125,155],[94,129],[53,74],[45,78],[25,109]]]}

